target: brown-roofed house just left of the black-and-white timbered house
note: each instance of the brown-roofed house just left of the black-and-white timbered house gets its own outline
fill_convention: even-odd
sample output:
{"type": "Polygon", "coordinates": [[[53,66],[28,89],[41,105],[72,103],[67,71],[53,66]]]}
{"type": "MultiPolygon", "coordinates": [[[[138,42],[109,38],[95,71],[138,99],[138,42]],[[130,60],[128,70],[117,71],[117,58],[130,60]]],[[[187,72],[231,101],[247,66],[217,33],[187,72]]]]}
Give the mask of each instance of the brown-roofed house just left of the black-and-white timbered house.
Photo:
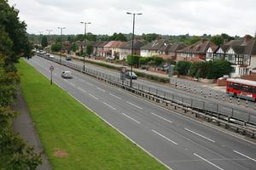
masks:
{"type": "Polygon", "coordinates": [[[198,60],[206,60],[207,50],[208,53],[213,53],[218,48],[213,42],[202,39],[199,42],[195,42],[192,45],[189,45],[186,48],[181,50],[177,50],[177,61],[179,60],[189,60],[189,61],[198,61],[198,60]]]}

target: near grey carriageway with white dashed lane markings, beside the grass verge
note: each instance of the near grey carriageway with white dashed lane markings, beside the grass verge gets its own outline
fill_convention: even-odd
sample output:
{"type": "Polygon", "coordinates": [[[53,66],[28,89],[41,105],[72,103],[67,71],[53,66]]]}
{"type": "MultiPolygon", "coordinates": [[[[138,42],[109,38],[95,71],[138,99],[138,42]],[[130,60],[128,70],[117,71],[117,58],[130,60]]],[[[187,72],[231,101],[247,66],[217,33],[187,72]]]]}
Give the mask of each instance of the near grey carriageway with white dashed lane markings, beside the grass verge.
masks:
{"type": "Polygon", "coordinates": [[[119,88],[110,87],[58,65],[33,57],[27,62],[46,77],[54,65],[53,81],[81,103],[95,111],[119,132],[172,169],[255,169],[256,145],[138,99],[119,88]],[[61,78],[72,71],[73,79],[61,78]]]}

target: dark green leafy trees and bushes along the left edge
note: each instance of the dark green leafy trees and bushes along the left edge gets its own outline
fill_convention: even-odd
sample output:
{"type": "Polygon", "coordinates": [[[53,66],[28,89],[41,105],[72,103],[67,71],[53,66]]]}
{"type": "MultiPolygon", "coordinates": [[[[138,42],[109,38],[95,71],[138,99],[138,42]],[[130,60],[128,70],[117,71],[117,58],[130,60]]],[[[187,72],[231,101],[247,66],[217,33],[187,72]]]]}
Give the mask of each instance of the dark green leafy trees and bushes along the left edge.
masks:
{"type": "Polygon", "coordinates": [[[0,169],[33,170],[41,158],[12,130],[17,113],[15,102],[20,77],[15,63],[20,56],[31,57],[31,44],[26,37],[26,24],[19,20],[18,10],[0,0],[0,169]]]}

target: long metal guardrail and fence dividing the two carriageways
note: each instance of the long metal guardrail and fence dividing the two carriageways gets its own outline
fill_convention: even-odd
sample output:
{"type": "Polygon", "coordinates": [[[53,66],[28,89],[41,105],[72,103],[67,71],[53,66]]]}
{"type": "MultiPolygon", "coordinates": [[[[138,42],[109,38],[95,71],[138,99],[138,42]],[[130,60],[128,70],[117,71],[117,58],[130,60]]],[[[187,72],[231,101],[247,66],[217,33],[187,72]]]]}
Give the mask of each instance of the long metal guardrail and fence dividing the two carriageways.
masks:
{"type": "Polygon", "coordinates": [[[108,82],[119,88],[125,88],[133,94],[142,96],[143,98],[153,100],[161,105],[171,105],[174,109],[180,108],[184,112],[190,111],[195,113],[195,116],[202,116],[207,118],[208,121],[224,124],[225,127],[234,127],[236,131],[241,130],[242,133],[250,133],[252,136],[256,133],[256,115],[250,111],[245,112],[225,105],[213,104],[198,99],[184,98],[169,92],[158,90],[156,88],[148,88],[143,84],[132,83],[130,81],[122,81],[119,77],[113,77],[108,74],[96,71],[93,69],[84,68],[82,65],[76,65],[66,60],[50,59],[43,54],[37,54],[44,59],[52,60],[61,65],[66,65],[74,70],[81,71],[84,74],[95,77],[103,82],[108,82]]]}

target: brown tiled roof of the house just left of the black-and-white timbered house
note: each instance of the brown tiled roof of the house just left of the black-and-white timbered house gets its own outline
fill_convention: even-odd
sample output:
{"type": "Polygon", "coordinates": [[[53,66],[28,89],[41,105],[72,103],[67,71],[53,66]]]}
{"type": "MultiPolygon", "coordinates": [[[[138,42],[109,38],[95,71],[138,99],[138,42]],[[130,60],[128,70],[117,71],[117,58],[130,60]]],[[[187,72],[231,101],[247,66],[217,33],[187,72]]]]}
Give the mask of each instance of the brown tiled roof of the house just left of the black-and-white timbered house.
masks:
{"type": "Polygon", "coordinates": [[[190,54],[206,54],[207,49],[211,47],[212,51],[215,51],[218,46],[214,43],[207,41],[207,40],[201,40],[199,42],[195,42],[194,44],[183,48],[181,50],[177,50],[178,53],[190,53],[190,54]]]}

